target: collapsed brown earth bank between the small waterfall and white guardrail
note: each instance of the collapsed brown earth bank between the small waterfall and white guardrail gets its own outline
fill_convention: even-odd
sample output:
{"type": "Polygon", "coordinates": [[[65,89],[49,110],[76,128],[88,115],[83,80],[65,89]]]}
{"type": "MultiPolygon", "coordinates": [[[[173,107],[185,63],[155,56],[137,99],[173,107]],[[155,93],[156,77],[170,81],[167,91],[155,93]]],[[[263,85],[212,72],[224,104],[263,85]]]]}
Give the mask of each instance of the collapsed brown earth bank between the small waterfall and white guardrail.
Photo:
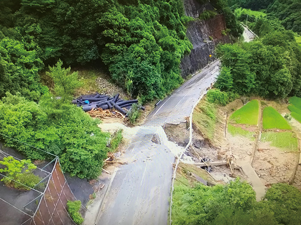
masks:
{"type": "Polygon", "coordinates": [[[189,140],[189,129],[187,123],[181,122],[180,124],[164,124],[164,130],[168,140],[173,141],[180,146],[186,146],[189,140]]]}

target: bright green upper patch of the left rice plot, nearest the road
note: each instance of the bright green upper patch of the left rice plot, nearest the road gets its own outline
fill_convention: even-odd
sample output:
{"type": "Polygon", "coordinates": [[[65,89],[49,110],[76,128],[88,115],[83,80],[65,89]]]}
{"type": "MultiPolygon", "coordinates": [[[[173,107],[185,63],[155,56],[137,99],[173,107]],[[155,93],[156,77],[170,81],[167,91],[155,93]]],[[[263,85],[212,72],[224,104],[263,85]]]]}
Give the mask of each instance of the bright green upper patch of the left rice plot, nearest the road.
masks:
{"type": "Polygon", "coordinates": [[[251,100],[241,108],[237,109],[230,116],[230,122],[257,125],[258,111],[259,111],[258,100],[256,99],[251,100]]]}

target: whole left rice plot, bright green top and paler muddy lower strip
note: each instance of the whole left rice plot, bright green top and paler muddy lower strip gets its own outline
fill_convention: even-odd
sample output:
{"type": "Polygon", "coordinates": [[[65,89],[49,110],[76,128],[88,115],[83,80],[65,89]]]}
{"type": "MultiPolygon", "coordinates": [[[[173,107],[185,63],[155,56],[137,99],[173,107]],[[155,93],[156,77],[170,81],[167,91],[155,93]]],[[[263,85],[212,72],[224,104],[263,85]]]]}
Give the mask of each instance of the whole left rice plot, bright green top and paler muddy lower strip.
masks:
{"type": "Polygon", "coordinates": [[[258,123],[258,100],[251,100],[230,116],[228,132],[232,136],[244,136],[254,140],[256,125],[258,123]]]}

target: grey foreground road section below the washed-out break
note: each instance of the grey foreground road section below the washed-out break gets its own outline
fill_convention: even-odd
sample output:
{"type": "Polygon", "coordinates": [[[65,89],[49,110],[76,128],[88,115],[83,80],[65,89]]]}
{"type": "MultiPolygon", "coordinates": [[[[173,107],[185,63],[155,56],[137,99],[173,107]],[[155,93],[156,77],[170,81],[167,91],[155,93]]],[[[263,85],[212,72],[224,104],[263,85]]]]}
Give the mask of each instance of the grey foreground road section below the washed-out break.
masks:
{"type": "Polygon", "coordinates": [[[123,158],[128,163],[116,171],[104,200],[99,225],[167,223],[175,155],[160,138],[152,141],[158,128],[137,130],[123,158]]]}

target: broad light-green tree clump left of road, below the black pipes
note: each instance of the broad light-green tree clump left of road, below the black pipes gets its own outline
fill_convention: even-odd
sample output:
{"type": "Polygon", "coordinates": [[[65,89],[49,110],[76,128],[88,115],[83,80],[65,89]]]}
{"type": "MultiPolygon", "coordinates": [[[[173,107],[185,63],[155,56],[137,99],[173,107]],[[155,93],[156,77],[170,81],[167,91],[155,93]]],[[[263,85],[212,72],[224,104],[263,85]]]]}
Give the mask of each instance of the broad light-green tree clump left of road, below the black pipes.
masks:
{"type": "MultiPolygon", "coordinates": [[[[2,133],[58,155],[63,171],[81,178],[97,177],[107,157],[110,135],[99,129],[99,122],[81,108],[50,96],[43,96],[36,103],[8,94],[0,101],[2,133]]],[[[29,158],[52,159],[49,154],[19,141],[4,137],[4,143],[29,158]]]]}

